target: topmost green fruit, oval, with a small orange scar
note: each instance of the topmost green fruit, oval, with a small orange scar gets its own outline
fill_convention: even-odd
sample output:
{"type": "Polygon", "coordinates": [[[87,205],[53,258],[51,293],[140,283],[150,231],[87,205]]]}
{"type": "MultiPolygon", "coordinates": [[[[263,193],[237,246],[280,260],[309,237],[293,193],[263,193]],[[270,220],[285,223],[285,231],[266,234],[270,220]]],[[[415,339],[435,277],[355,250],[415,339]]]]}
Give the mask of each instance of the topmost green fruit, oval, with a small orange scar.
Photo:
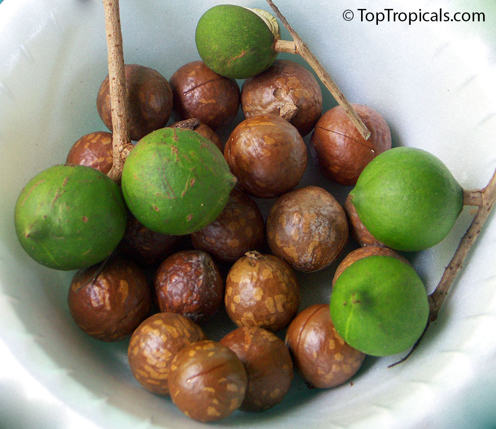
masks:
{"type": "Polygon", "coordinates": [[[267,24],[251,10],[232,4],[208,9],[198,20],[195,41],[209,69],[234,79],[261,73],[277,57],[267,24]]]}

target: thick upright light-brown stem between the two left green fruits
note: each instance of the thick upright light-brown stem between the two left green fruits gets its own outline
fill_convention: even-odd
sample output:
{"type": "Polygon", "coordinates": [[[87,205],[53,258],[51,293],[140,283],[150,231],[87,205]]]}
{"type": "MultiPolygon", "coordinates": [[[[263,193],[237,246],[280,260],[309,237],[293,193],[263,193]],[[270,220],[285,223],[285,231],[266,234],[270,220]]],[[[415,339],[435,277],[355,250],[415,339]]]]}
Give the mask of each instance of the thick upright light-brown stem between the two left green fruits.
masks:
{"type": "Polygon", "coordinates": [[[103,0],[103,5],[105,9],[105,31],[107,33],[114,161],[112,169],[107,175],[119,183],[125,158],[132,148],[129,138],[129,117],[127,115],[123,37],[119,15],[119,0],[103,0]]]}

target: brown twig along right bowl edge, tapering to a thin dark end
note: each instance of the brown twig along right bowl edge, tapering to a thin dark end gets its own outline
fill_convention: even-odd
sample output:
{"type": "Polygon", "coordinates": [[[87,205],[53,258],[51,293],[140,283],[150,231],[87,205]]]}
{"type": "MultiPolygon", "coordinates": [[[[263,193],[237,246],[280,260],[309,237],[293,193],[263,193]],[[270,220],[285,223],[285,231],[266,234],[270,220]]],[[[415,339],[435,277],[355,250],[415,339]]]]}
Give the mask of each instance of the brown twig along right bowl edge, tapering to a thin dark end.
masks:
{"type": "Polygon", "coordinates": [[[431,293],[429,298],[429,320],[427,321],[427,326],[424,329],[424,332],[417,340],[415,345],[412,347],[412,350],[403,357],[398,362],[389,365],[389,367],[397,365],[398,363],[404,362],[418,347],[420,341],[424,337],[427,332],[427,328],[429,325],[437,319],[437,315],[439,314],[439,309],[441,308],[446,295],[448,294],[448,289],[452,285],[455,280],[458,272],[463,266],[463,261],[467,257],[470,252],[470,249],[475,243],[475,240],[479,236],[484,222],[488,218],[491,209],[493,208],[496,201],[496,170],[493,172],[493,176],[489,181],[488,185],[484,189],[472,189],[472,190],[464,190],[463,191],[463,204],[465,206],[479,206],[477,209],[477,213],[472,220],[467,232],[463,235],[456,248],[456,251],[449,261],[448,266],[444,270],[442,274],[441,280],[437,284],[434,292],[431,293]]]}

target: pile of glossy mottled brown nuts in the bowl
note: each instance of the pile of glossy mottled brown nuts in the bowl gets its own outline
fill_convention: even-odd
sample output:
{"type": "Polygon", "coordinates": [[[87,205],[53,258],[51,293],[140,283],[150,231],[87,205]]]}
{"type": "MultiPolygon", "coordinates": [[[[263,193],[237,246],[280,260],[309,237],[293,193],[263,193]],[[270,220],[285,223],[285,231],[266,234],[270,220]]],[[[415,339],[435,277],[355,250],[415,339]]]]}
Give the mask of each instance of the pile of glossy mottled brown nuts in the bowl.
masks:
{"type": "MultiPolygon", "coordinates": [[[[235,79],[202,61],[183,65],[169,81],[138,65],[126,65],[125,76],[133,140],[165,127],[172,114],[172,127],[194,130],[224,152],[238,184],[220,216],[188,236],[154,232],[129,213],[111,258],[79,270],[72,280],[68,304],[77,325],[102,341],[130,337],[128,360],[136,380],[155,394],[170,395],[199,421],[277,405],[294,368],[312,387],[349,380],[365,354],[336,332],[327,303],[298,313],[296,271],[330,266],[350,232],[360,237],[364,228],[353,206],[349,222],[328,191],[298,188],[308,161],[303,138],[313,130],[315,164],[324,176],[350,185],[391,147],[384,119],[355,105],[372,132],[365,141],[341,107],[321,115],[319,84],[290,60],[276,60],[246,79],[241,90],[235,79]],[[223,144],[217,131],[232,124],[240,106],[246,119],[223,144]],[[257,199],[274,199],[266,221],[257,199]],[[220,341],[207,339],[201,325],[223,311],[238,329],[220,341]]],[[[112,131],[108,77],[97,108],[112,131]]],[[[108,172],[112,135],[84,136],[66,162],[108,172]]]]}

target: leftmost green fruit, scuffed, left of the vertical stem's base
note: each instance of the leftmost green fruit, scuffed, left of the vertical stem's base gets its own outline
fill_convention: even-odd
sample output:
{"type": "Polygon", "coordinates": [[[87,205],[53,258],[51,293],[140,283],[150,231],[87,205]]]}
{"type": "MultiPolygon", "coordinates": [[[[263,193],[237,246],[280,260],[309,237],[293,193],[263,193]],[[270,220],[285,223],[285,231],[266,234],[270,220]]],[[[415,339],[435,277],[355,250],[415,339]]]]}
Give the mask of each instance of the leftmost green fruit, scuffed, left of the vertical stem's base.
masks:
{"type": "Polygon", "coordinates": [[[76,270],[112,253],[124,235],[126,209],[119,186],[102,172],[54,165],[21,191],[14,223],[31,258],[57,270],[76,270]]]}

